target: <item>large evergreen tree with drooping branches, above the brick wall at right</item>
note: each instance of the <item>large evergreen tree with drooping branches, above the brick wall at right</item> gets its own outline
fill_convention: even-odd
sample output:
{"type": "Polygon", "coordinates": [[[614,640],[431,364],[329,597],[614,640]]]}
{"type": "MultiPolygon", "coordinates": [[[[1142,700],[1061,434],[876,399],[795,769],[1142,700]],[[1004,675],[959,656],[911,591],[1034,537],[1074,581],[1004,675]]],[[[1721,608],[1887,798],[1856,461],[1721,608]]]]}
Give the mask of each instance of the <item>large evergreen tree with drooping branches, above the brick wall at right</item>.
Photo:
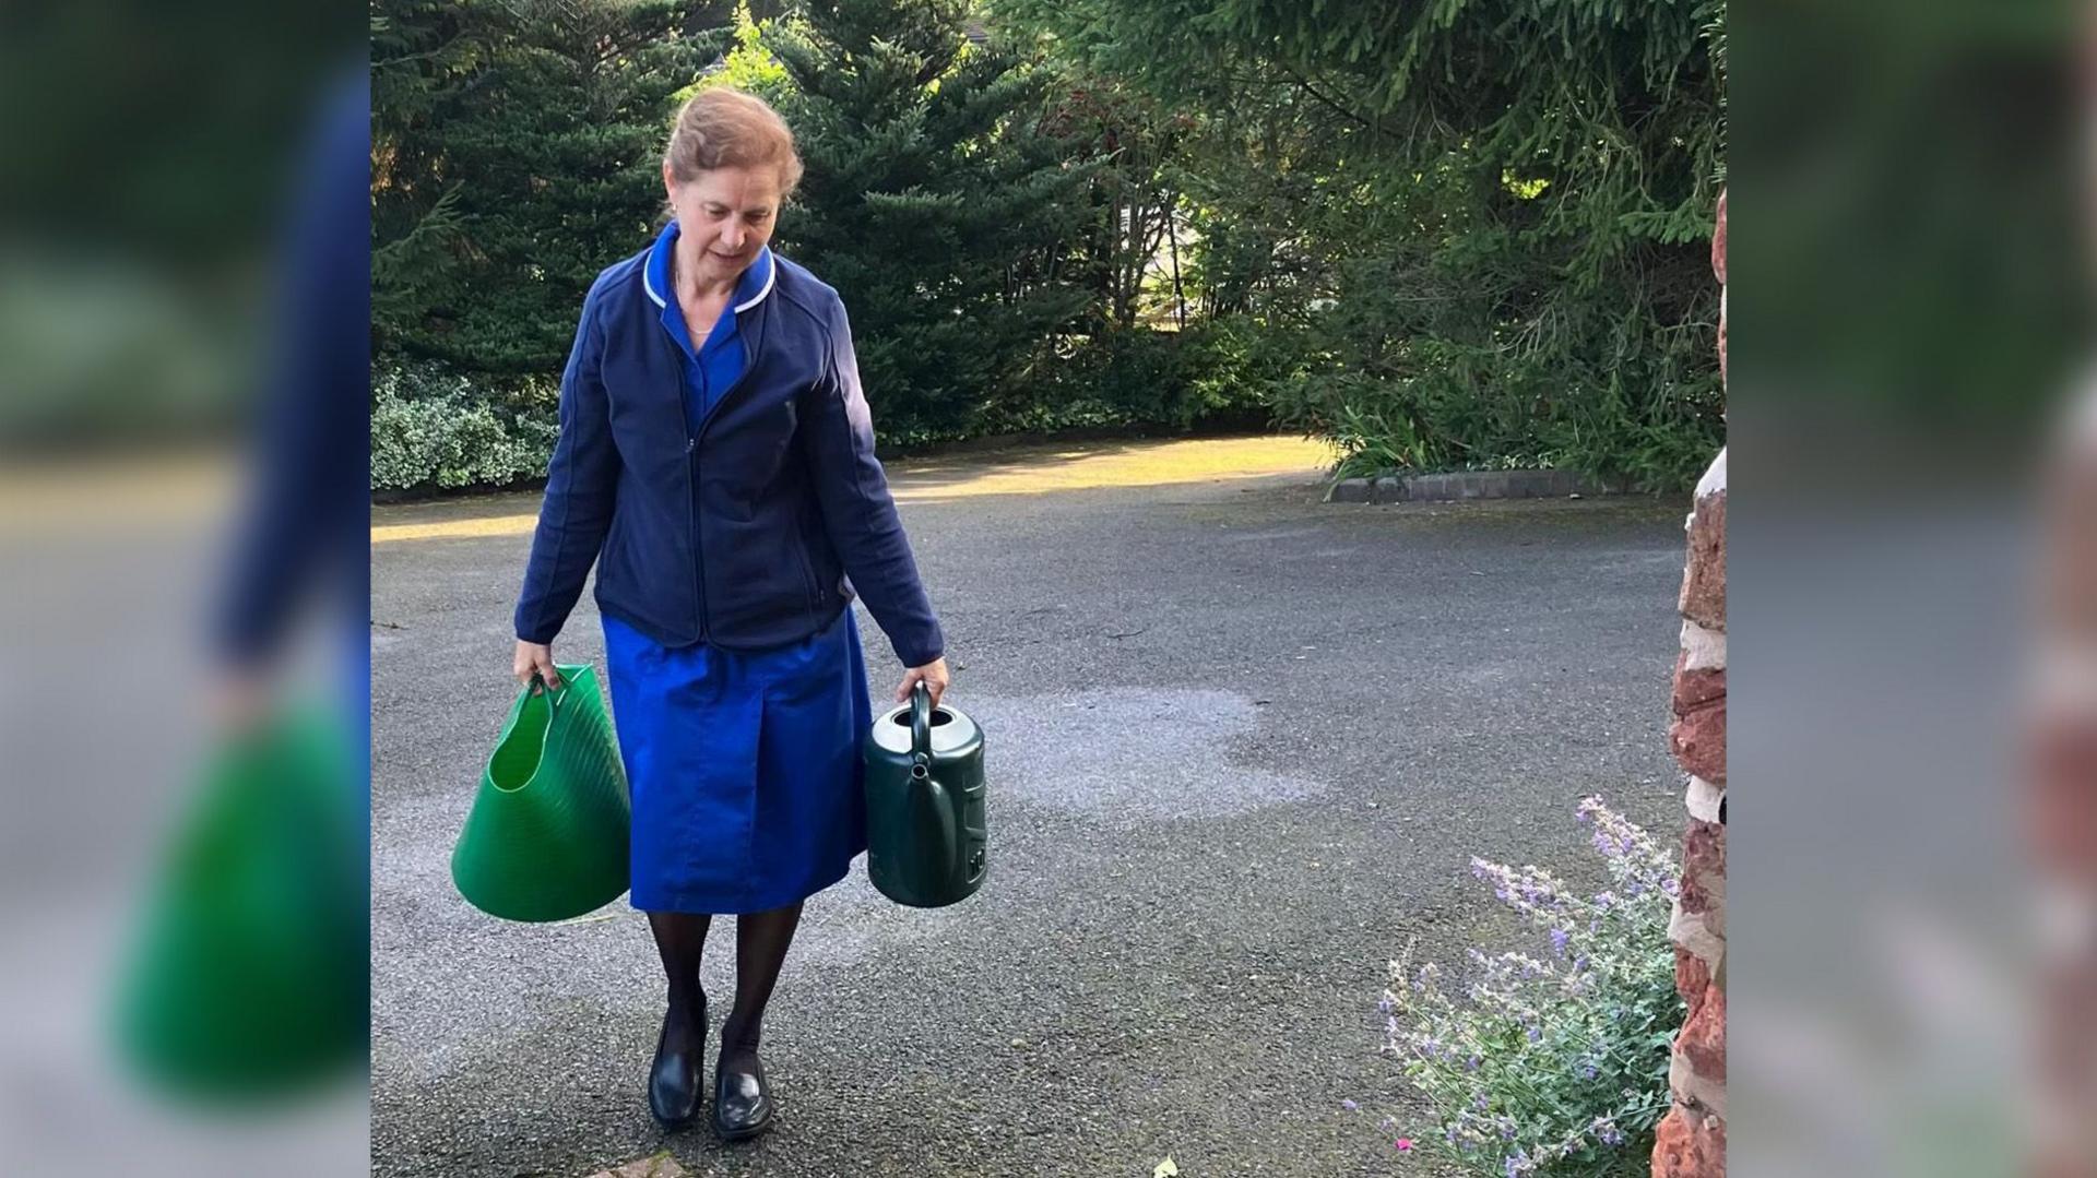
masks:
{"type": "Polygon", "coordinates": [[[1722,438],[1724,0],[994,0],[1193,117],[1189,277],[1359,470],[1680,488],[1722,438]]]}

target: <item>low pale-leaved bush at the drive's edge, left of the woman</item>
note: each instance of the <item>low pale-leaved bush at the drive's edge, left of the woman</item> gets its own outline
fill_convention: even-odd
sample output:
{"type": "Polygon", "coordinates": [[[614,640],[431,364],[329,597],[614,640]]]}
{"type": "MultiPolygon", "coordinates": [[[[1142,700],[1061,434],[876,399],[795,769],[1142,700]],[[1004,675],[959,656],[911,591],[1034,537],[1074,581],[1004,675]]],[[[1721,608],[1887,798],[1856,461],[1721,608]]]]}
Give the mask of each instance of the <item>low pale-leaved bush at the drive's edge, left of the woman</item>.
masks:
{"type": "Polygon", "coordinates": [[[543,379],[476,388],[430,361],[384,358],[371,381],[373,490],[505,486],[545,476],[560,434],[543,379]]]}

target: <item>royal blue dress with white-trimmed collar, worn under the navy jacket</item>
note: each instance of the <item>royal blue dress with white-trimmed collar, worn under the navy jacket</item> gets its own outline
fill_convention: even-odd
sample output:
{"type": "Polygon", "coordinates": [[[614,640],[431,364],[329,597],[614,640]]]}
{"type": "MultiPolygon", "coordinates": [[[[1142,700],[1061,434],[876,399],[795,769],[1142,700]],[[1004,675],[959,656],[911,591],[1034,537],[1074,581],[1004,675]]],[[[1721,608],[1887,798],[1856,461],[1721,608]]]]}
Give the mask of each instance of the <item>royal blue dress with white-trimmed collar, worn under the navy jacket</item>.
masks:
{"type": "MultiPolygon", "coordinates": [[[[742,375],[736,312],[772,291],[751,262],[705,344],[692,346],[669,281],[671,222],[648,256],[648,296],[684,350],[698,421],[742,375]]],[[[705,455],[700,455],[705,461],[705,455]]],[[[860,740],[874,723],[860,627],[772,650],[669,648],[604,614],[619,750],[633,794],[633,891],[644,912],[765,912],[845,878],[866,851],[860,740]]]]}

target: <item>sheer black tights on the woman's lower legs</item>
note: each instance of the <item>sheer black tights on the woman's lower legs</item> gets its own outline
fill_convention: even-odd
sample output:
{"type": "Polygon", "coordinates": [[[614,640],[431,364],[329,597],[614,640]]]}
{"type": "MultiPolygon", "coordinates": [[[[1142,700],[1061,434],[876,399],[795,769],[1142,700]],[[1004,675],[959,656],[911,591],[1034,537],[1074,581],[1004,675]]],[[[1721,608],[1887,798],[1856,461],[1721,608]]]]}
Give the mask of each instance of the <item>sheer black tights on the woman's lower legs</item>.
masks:
{"type": "MultiPolygon", "coordinates": [[[[669,981],[669,1048],[690,1048],[707,1033],[707,996],[698,987],[698,962],[707,950],[713,916],[694,912],[650,912],[663,977],[669,981]]],[[[765,1002],[778,985],[793,933],[801,926],[801,906],[736,916],[736,1006],[721,1023],[721,1061],[747,1069],[763,1033],[765,1002]]]]}

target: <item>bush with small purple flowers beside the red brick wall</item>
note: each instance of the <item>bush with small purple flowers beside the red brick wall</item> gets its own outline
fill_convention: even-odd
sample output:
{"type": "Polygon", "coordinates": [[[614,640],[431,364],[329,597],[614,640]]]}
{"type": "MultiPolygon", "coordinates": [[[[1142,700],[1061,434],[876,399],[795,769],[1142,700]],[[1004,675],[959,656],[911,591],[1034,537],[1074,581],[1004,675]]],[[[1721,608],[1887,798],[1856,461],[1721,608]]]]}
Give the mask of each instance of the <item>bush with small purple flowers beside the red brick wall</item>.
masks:
{"type": "MultiPolygon", "coordinates": [[[[1472,874],[1550,939],[1541,958],[1470,952],[1462,998],[1436,964],[1390,962],[1384,1050],[1434,1109],[1420,1142],[1493,1178],[1650,1170],[1682,1025],[1667,916],[1673,855],[1600,799],[1579,805],[1615,887],[1579,895],[1541,868],[1472,874]]],[[[1409,1144],[1409,1142],[1407,1142],[1409,1144]]]]}

